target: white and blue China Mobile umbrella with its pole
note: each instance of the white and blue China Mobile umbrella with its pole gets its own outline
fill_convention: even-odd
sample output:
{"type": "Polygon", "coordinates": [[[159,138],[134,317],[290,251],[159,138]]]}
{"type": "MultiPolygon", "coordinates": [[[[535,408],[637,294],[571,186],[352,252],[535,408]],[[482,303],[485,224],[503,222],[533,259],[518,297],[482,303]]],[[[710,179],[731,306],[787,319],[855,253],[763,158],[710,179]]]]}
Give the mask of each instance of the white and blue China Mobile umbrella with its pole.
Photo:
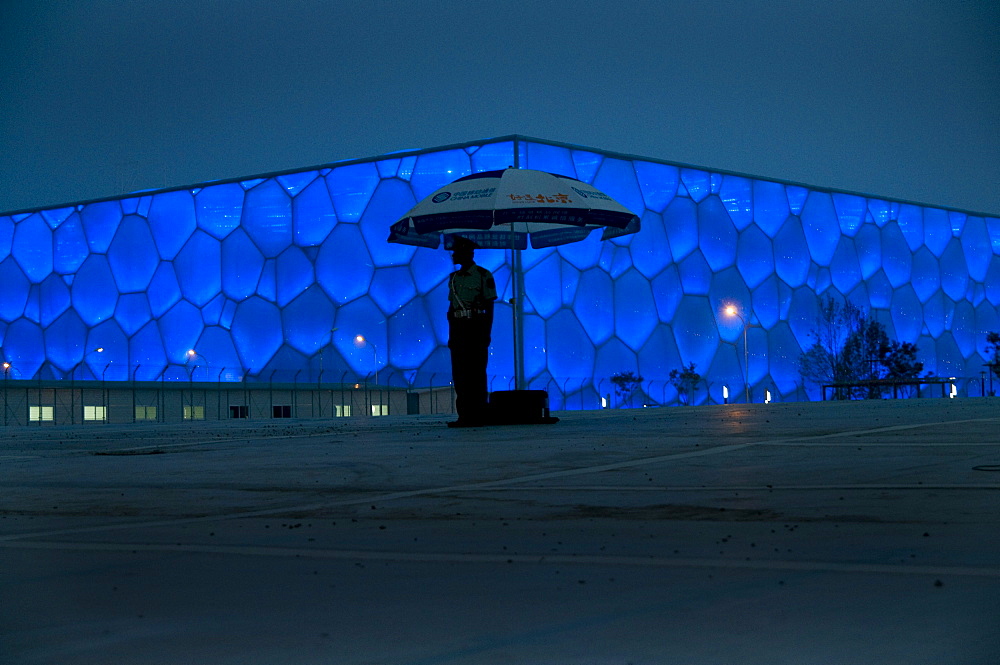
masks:
{"type": "Polygon", "coordinates": [[[389,242],[451,247],[464,236],[483,249],[509,249],[514,302],[514,383],[524,375],[524,275],[520,250],[578,242],[603,229],[607,240],[639,230],[639,218],[595,187],[568,176],[508,168],[459,178],[420,201],[390,227],[389,242]]]}

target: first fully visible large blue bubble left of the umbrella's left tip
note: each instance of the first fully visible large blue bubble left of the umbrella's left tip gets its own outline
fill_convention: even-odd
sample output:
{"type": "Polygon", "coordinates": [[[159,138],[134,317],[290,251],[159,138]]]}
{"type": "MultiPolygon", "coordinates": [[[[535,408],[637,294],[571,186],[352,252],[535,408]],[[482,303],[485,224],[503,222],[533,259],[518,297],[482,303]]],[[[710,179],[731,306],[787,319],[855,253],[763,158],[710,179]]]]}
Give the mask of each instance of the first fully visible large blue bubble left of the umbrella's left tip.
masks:
{"type": "Polygon", "coordinates": [[[316,259],[316,281],[334,302],[346,303],[368,292],[373,274],[361,231],[355,225],[337,225],[316,259]]]}

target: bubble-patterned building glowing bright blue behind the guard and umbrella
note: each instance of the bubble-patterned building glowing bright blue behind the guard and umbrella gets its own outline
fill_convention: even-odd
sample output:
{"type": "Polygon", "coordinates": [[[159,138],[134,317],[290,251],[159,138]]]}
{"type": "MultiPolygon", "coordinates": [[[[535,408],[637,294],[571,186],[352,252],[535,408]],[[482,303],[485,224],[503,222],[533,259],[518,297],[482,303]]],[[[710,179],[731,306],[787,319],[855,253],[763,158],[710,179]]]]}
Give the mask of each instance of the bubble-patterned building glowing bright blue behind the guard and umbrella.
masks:
{"type": "MultiPolygon", "coordinates": [[[[634,236],[522,255],[526,379],[553,408],[596,408],[628,370],[645,401],[674,403],[668,374],[690,363],[705,378],[695,401],[723,401],[724,386],[742,401],[744,351],[758,401],[816,399],[798,358],[825,295],[916,343],[927,370],[978,386],[985,334],[1000,330],[1000,219],[513,136],[2,215],[3,359],[46,381],[189,380],[195,367],[212,382],[377,370],[387,386],[446,385],[450,258],[389,244],[388,227],[515,150],[642,218],[634,236]],[[729,304],[752,324],[746,349],[729,304]]],[[[509,252],[477,260],[509,298],[509,252]]],[[[510,387],[511,327],[503,302],[493,390],[510,387]]]]}

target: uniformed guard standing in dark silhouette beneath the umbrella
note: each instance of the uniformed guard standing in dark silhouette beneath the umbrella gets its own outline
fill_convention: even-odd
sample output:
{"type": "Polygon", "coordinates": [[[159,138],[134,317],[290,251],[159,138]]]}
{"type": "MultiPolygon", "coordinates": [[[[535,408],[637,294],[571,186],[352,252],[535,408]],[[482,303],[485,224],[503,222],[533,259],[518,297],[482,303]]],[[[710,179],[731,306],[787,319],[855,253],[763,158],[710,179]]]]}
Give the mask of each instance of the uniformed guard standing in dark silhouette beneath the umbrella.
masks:
{"type": "Polygon", "coordinates": [[[481,425],[486,418],[486,364],[497,289],[493,274],[472,261],[475,248],[465,238],[455,239],[456,260],[467,251],[468,262],[448,278],[448,348],[458,425],[481,425]]]}

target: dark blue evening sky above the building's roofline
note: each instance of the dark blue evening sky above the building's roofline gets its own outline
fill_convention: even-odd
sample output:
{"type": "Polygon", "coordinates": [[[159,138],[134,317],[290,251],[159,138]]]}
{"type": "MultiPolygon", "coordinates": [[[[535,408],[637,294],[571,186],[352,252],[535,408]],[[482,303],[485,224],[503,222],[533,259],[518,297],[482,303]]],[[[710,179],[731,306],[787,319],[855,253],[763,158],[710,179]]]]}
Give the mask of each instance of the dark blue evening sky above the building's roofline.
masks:
{"type": "Polygon", "coordinates": [[[1000,214],[1000,3],[0,0],[0,210],[524,134],[1000,214]]]}

